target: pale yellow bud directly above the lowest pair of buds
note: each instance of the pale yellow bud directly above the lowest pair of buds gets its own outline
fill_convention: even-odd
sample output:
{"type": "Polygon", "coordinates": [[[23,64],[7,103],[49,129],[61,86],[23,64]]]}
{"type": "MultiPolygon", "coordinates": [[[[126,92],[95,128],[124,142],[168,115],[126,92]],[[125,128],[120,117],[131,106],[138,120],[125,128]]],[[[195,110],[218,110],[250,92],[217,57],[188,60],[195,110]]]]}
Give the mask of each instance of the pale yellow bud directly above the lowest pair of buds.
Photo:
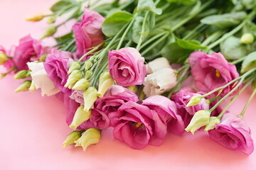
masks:
{"type": "Polygon", "coordinates": [[[72,120],[72,123],[70,124],[71,129],[76,129],[78,126],[80,126],[82,123],[84,123],[86,120],[90,118],[91,111],[84,111],[84,106],[78,107],[77,111],[75,112],[74,118],[72,120]]]}

